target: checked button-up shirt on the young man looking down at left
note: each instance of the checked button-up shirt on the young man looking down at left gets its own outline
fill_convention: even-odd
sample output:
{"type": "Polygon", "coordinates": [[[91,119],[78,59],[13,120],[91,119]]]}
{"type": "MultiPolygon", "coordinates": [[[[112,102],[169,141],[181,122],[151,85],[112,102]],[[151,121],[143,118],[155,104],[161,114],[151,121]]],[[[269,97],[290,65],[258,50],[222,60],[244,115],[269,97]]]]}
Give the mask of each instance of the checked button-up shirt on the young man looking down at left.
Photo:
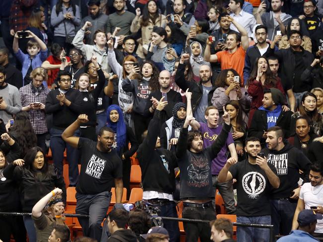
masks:
{"type": "MultiPolygon", "coordinates": [[[[49,89],[44,87],[43,90],[38,93],[33,93],[31,90],[31,83],[26,86],[23,86],[19,89],[21,105],[22,107],[28,106],[30,103],[40,102],[45,104],[46,97],[49,93],[49,89]]],[[[46,115],[45,110],[29,110],[29,120],[36,134],[46,133],[46,115]]]]}

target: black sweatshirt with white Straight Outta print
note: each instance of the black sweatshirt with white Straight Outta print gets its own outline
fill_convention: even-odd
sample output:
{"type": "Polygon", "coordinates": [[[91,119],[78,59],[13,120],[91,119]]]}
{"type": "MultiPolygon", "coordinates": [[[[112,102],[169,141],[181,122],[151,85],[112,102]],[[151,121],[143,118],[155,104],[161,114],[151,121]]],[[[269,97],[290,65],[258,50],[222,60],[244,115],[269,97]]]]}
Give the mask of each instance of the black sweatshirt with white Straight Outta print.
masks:
{"type": "Polygon", "coordinates": [[[268,148],[262,150],[267,162],[276,167],[280,180],[279,187],[271,192],[271,199],[290,197],[291,192],[299,186],[300,178],[304,180],[302,183],[309,182],[310,160],[301,150],[290,145],[286,140],[284,144],[285,146],[279,151],[268,148]],[[303,176],[300,175],[299,170],[304,172],[303,176]]]}

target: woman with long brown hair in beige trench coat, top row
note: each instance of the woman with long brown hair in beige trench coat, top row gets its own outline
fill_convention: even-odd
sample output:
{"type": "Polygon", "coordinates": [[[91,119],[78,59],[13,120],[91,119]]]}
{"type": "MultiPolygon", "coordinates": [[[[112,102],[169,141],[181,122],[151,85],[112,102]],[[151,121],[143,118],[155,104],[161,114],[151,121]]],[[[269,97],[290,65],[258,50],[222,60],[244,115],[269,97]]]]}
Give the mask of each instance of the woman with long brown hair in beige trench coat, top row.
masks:
{"type": "Polygon", "coordinates": [[[166,16],[159,13],[158,4],[155,0],[149,0],[147,2],[142,15],[140,8],[138,7],[136,9],[136,17],[132,20],[130,31],[137,33],[141,30],[141,43],[136,52],[140,58],[145,58],[143,46],[150,43],[153,27],[165,27],[165,25],[166,16]]]}

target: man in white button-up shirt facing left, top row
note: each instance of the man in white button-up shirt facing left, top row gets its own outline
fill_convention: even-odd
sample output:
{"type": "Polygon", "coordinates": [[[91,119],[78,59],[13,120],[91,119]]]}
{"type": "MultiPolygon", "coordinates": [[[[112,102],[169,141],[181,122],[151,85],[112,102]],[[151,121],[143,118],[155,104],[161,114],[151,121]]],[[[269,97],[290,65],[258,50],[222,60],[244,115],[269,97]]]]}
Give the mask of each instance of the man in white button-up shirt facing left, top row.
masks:
{"type": "MultiPolygon", "coordinates": [[[[230,16],[233,17],[236,22],[240,23],[248,32],[248,37],[251,37],[252,28],[254,25],[256,25],[256,19],[252,14],[242,10],[243,3],[244,0],[230,0],[229,8],[232,12],[230,16]]],[[[231,24],[230,29],[239,32],[237,27],[233,24],[231,24]]]]}

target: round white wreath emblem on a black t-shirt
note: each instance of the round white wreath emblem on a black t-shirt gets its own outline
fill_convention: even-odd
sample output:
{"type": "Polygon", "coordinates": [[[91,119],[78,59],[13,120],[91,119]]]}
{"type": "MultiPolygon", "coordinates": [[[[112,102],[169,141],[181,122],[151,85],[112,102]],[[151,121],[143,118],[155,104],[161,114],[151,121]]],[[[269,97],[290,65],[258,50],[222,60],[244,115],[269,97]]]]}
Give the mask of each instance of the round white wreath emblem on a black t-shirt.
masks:
{"type": "Polygon", "coordinates": [[[258,172],[248,172],[242,178],[242,187],[249,198],[257,199],[266,187],[266,180],[258,172]]]}

